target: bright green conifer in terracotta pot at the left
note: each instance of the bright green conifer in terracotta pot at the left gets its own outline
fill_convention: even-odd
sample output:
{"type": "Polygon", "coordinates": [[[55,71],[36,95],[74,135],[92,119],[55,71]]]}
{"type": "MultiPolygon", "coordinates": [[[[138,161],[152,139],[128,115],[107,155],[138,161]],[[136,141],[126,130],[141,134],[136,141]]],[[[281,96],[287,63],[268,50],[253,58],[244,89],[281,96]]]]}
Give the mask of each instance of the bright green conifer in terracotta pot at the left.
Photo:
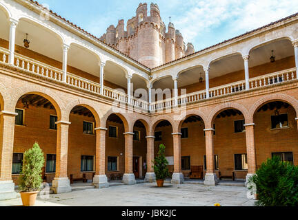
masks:
{"type": "Polygon", "coordinates": [[[23,206],[34,206],[43,182],[41,172],[44,162],[43,152],[37,143],[24,153],[23,167],[19,177],[23,206]]]}

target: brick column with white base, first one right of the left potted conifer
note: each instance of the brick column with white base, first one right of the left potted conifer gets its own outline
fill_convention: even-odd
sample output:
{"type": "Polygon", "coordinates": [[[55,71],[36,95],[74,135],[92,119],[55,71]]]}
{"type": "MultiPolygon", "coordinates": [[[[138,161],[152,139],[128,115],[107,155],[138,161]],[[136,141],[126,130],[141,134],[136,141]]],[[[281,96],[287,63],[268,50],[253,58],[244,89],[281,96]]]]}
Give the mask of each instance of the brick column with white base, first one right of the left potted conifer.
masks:
{"type": "Polygon", "coordinates": [[[56,175],[52,181],[54,193],[71,192],[67,175],[68,166],[68,128],[70,122],[59,121],[57,124],[56,175]]]}

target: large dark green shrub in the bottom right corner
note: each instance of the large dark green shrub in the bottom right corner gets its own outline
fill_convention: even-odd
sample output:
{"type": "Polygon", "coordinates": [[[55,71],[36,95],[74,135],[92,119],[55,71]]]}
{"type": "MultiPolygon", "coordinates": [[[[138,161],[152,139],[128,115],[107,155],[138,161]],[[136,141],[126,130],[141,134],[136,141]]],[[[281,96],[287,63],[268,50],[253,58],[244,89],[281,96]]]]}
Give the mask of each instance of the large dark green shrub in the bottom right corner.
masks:
{"type": "Polygon", "coordinates": [[[255,206],[298,206],[298,166],[273,157],[249,181],[257,188],[255,206]]]}

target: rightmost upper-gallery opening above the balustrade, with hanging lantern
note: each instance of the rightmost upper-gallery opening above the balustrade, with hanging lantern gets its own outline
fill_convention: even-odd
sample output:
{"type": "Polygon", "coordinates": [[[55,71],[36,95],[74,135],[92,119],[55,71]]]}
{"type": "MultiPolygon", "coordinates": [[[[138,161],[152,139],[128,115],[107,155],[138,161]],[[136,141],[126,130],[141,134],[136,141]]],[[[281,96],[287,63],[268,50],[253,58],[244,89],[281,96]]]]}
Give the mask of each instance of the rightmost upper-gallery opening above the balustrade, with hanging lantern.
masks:
{"type": "Polygon", "coordinates": [[[250,50],[250,78],[295,67],[295,54],[289,39],[277,39],[250,50]],[[273,51],[273,52],[272,52],[273,51]],[[274,56],[274,62],[270,58],[274,56]]]}

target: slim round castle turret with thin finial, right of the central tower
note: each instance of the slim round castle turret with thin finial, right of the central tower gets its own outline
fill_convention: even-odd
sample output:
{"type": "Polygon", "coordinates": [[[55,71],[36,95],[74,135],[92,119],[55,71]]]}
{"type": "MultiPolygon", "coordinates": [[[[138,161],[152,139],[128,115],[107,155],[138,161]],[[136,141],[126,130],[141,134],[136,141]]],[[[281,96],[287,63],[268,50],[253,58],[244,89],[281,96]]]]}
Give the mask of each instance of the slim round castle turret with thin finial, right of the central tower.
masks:
{"type": "Polygon", "coordinates": [[[175,60],[175,41],[176,33],[173,23],[168,24],[168,33],[166,33],[166,63],[175,60]]]}

